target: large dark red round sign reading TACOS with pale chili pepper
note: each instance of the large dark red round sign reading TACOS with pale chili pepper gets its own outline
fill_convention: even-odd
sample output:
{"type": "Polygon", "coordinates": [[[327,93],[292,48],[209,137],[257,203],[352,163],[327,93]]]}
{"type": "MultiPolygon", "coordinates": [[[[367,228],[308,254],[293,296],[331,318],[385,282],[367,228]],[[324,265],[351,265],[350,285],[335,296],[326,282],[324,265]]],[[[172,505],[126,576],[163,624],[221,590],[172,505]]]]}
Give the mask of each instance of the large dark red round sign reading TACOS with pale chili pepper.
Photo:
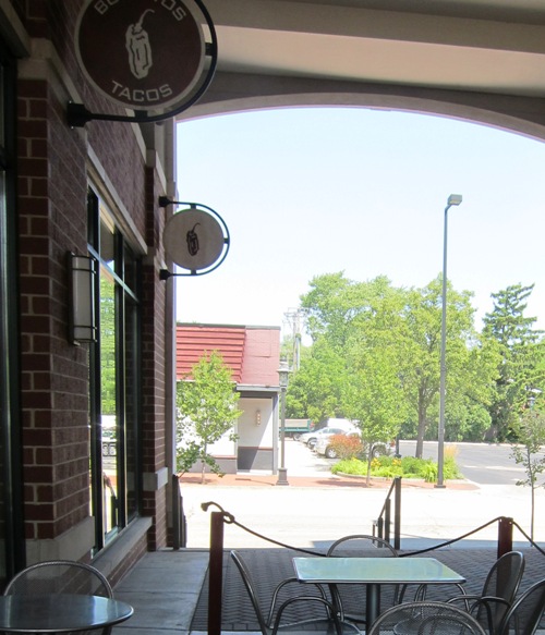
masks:
{"type": "Polygon", "coordinates": [[[87,0],[75,50],[88,81],[123,108],[157,110],[186,99],[203,73],[206,42],[181,0],[87,0]]]}

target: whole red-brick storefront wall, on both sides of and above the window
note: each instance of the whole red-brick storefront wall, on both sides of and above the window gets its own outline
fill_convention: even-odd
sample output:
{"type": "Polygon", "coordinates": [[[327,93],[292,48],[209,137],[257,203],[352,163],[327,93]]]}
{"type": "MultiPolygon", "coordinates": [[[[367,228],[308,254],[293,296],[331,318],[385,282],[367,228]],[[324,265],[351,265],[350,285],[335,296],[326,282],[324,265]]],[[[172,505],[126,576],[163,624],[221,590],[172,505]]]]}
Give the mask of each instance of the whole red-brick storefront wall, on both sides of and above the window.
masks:
{"type": "MultiPolygon", "coordinates": [[[[88,108],[111,105],[84,83],[75,64],[73,27],[81,0],[22,0],[33,37],[55,44],[64,71],[88,108]]],[[[53,539],[89,514],[88,350],[68,341],[65,254],[87,245],[87,144],[150,253],[160,254],[160,181],[128,123],[65,123],[65,98],[48,77],[22,80],[17,101],[17,215],[22,331],[24,514],[27,539],[53,539]]],[[[144,472],[165,465],[165,283],[156,260],[143,276],[144,472]]],[[[155,520],[149,546],[166,544],[166,493],[146,492],[155,520]]]]}

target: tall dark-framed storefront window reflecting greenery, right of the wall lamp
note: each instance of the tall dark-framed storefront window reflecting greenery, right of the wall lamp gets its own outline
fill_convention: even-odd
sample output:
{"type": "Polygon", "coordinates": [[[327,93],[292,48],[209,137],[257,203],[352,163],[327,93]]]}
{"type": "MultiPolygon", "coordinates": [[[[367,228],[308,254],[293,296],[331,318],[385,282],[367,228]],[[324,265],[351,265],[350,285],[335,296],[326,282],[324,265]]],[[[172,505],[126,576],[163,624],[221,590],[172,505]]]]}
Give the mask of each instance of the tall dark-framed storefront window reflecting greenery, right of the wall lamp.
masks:
{"type": "Polygon", "coordinates": [[[96,550],[138,512],[138,261],[89,193],[89,252],[99,262],[99,341],[90,355],[90,481],[96,550]]]}

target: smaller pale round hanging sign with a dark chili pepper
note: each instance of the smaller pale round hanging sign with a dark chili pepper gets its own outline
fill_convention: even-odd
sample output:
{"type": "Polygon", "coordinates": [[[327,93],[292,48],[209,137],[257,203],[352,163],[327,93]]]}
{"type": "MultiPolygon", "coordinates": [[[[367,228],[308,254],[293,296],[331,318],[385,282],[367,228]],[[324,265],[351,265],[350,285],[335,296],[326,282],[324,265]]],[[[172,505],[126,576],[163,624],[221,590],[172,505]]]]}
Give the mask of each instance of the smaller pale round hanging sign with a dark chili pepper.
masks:
{"type": "Polygon", "coordinates": [[[195,207],[172,216],[165,225],[162,239],[168,256],[192,272],[208,269],[221,256],[225,258],[229,247],[227,228],[211,213],[195,207]]]}

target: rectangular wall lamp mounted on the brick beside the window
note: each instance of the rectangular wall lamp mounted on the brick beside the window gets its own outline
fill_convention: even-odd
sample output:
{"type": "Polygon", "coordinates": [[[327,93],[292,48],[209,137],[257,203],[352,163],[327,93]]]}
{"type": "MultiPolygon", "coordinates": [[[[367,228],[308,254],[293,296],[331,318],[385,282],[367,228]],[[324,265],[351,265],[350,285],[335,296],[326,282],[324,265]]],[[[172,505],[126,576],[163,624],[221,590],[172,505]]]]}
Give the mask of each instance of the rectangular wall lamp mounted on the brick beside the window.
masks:
{"type": "Polygon", "coordinates": [[[69,339],[73,344],[96,342],[95,281],[96,260],[89,256],[68,254],[69,339]]]}

